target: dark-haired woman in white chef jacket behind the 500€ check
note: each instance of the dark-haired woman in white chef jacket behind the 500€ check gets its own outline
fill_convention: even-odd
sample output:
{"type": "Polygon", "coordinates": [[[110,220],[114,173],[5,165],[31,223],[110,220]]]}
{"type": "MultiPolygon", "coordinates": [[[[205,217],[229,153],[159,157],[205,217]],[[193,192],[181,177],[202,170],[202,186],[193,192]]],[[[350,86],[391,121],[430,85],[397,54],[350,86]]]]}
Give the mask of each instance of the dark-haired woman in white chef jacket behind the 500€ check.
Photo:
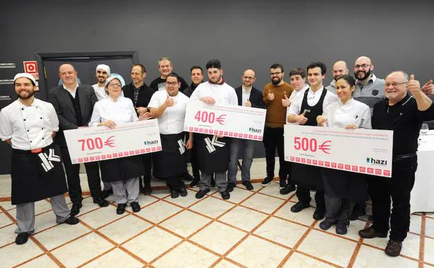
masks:
{"type": "MultiPolygon", "coordinates": [[[[316,118],[319,126],[344,129],[371,129],[371,113],[367,104],[353,99],[355,79],[348,74],[337,78],[336,92],[339,101],[334,102],[316,118]]],[[[365,175],[332,168],[321,170],[325,189],[325,220],[319,224],[328,230],[336,224],[336,233],[345,235],[348,218],[357,201],[367,200],[365,175]]]]}

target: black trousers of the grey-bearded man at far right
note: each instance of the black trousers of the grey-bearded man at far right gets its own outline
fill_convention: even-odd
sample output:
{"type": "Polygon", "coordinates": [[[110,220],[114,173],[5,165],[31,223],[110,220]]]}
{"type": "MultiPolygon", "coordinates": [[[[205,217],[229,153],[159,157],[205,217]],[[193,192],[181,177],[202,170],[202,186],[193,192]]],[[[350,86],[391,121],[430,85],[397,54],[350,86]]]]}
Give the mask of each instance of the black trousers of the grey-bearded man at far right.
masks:
{"type": "Polygon", "coordinates": [[[394,161],[392,178],[371,176],[369,194],[372,198],[373,229],[387,233],[390,239],[403,241],[410,228],[410,192],[415,184],[417,157],[394,161]],[[392,199],[392,214],[390,200],[392,199]]]}

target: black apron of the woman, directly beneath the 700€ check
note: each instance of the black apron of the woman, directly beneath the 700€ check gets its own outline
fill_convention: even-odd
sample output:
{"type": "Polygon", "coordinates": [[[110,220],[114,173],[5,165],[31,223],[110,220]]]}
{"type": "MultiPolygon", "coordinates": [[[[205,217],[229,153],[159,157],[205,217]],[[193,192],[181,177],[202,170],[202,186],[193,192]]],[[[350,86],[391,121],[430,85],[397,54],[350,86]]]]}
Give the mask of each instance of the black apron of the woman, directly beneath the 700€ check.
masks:
{"type": "Polygon", "coordinates": [[[141,155],[99,161],[99,167],[103,182],[129,180],[145,174],[145,165],[141,155]]]}

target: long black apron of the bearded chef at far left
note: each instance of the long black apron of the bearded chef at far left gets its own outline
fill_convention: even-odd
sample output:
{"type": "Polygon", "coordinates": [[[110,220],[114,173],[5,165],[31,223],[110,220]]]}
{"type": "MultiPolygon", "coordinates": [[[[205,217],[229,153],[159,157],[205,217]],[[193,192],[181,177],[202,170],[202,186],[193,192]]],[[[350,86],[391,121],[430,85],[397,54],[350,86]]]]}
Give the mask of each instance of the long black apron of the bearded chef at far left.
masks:
{"type": "Polygon", "coordinates": [[[12,204],[19,205],[67,192],[61,154],[54,145],[40,152],[12,150],[12,204]]]}

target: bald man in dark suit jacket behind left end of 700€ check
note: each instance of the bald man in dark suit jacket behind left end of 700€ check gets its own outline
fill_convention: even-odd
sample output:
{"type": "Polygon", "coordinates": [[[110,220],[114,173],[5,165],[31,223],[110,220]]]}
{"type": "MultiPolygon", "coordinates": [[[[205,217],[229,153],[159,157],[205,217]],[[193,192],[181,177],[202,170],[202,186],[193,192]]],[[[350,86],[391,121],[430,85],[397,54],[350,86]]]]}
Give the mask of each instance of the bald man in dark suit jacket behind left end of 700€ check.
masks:
{"type": "MultiPolygon", "coordinates": [[[[77,83],[77,71],[71,64],[61,65],[58,74],[63,84],[49,90],[49,102],[56,109],[59,120],[59,132],[54,141],[61,147],[63,163],[65,164],[68,191],[72,201],[71,215],[77,215],[82,207],[81,200],[83,200],[79,177],[80,166],[71,163],[63,131],[88,125],[93,106],[97,102],[97,96],[92,86],[77,83]]],[[[106,207],[109,203],[102,198],[97,162],[89,162],[84,166],[88,175],[93,203],[97,203],[100,207],[106,207]]]]}

